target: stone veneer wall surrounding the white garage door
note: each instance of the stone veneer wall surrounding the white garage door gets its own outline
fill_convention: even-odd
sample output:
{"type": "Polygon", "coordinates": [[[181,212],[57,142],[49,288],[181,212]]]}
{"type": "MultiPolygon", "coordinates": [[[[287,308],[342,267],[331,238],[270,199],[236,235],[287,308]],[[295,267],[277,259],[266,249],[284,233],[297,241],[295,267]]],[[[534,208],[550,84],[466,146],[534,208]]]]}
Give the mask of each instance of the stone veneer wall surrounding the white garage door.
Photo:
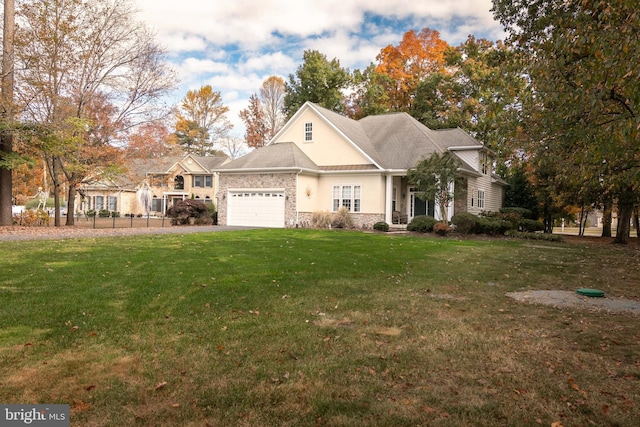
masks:
{"type": "Polygon", "coordinates": [[[218,224],[227,225],[227,192],[232,189],[284,188],[285,227],[296,226],[296,174],[220,174],[218,199],[218,224]]]}

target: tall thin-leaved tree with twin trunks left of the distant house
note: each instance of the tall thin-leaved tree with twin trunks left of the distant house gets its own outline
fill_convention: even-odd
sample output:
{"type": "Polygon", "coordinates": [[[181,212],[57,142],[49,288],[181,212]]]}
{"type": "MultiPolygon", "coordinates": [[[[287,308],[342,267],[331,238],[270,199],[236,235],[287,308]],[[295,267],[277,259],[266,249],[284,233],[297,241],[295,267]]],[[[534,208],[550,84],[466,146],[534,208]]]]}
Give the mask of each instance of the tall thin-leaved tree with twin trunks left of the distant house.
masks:
{"type": "Polygon", "coordinates": [[[16,16],[16,103],[28,148],[47,165],[58,226],[63,185],[73,213],[78,184],[116,166],[116,146],[163,115],[176,75],[130,1],[21,2],[16,16]]]}

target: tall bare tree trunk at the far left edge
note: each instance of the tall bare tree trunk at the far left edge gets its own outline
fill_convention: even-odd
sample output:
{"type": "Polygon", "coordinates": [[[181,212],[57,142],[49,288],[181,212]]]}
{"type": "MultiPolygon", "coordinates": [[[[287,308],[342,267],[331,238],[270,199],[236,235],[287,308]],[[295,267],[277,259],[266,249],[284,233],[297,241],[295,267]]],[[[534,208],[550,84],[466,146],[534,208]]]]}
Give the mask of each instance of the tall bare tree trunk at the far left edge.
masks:
{"type": "MultiPolygon", "coordinates": [[[[2,120],[13,121],[13,37],[15,33],[14,0],[4,0],[2,38],[2,120]]],[[[0,159],[13,152],[13,132],[0,135],[0,159]]],[[[13,225],[13,181],[8,165],[0,167],[0,226],[13,225]]]]}

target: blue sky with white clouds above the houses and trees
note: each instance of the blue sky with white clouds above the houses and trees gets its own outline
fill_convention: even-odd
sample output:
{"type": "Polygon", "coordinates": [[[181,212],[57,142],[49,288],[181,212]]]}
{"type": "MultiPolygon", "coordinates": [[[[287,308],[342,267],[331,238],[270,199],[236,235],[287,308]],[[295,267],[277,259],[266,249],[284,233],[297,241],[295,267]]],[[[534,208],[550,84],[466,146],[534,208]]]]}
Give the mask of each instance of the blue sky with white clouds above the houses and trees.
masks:
{"type": "Polygon", "coordinates": [[[156,34],[187,90],[211,85],[230,108],[233,136],[238,118],[271,75],[287,79],[307,49],[364,69],[380,49],[409,30],[428,27],[451,45],[467,35],[504,38],[491,0],[137,0],[140,19],[156,34]]]}

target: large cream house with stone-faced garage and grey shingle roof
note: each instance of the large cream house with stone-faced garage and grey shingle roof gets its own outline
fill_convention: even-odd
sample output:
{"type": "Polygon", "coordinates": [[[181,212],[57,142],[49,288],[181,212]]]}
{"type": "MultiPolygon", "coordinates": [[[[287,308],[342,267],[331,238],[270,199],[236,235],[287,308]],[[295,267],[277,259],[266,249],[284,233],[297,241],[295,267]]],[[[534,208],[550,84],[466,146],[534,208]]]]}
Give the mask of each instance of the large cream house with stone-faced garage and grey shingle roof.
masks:
{"type": "Polygon", "coordinates": [[[307,102],[269,145],[217,168],[218,221],[306,226],[314,212],[341,206],[367,228],[437,216],[433,201],[416,196],[407,170],[446,150],[462,165],[449,219],[454,212],[497,211],[506,183],[491,171],[491,151],[463,130],[431,130],[406,113],[355,121],[307,102]]]}

